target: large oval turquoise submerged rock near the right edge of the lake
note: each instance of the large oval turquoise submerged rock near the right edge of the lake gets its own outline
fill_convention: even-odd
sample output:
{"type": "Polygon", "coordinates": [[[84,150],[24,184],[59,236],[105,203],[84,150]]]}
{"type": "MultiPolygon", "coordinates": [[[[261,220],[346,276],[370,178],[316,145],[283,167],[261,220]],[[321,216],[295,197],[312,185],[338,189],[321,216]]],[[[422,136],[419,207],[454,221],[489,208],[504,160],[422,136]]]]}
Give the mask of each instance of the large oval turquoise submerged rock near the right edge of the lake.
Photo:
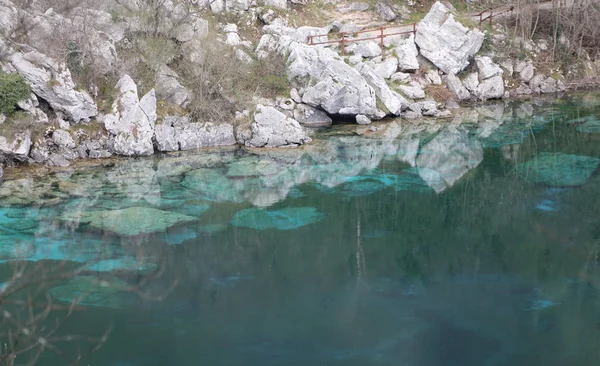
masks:
{"type": "Polygon", "coordinates": [[[517,172],[530,183],[580,186],[587,182],[599,163],[600,159],[589,156],[542,152],[537,158],[520,164],[517,172]]]}

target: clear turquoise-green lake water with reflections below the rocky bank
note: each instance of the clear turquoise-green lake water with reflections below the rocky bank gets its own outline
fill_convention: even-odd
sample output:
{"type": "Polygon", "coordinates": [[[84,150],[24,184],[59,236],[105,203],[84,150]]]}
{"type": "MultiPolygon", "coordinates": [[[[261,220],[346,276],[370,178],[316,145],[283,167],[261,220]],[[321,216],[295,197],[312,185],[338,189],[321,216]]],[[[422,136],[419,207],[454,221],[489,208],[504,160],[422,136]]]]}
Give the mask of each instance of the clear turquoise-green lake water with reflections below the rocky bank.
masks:
{"type": "Polygon", "coordinates": [[[600,364],[600,95],[313,138],[16,172],[1,276],[85,266],[91,366],[600,364]]]}

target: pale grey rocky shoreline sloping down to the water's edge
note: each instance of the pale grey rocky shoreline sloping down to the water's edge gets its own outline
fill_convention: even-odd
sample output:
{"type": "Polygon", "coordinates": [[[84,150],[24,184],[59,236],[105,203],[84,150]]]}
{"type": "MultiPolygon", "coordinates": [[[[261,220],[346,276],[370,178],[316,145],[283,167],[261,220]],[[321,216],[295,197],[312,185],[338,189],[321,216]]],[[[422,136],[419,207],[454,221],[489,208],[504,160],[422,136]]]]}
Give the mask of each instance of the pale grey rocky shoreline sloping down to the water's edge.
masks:
{"type": "MultiPolygon", "coordinates": [[[[221,13],[238,5],[215,7],[211,3],[210,8],[221,13]]],[[[183,11],[177,2],[167,1],[163,6],[175,13],[183,11]]],[[[242,19],[252,6],[242,8],[231,11],[242,19]]],[[[289,83],[289,96],[256,96],[250,103],[252,108],[240,108],[230,121],[200,121],[185,113],[195,91],[166,64],[158,68],[154,88],[143,95],[131,76],[120,75],[109,107],[102,109],[100,102],[107,101],[93,96],[97,86],[81,88],[65,61],[44,54],[40,51],[43,45],[35,42],[16,43],[14,34],[23,19],[45,25],[32,28],[33,34],[28,35],[32,40],[35,32],[56,22],[70,20],[76,28],[78,22],[93,16],[91,27],[95,28],[91,33],[106,37],[93,38],[97,42],[90,52],[98,56],[100,65],[114,69],[120,63],[117,46],[127,41],[132,24],[139,26],[139,22],[115,20],[106,11],[86,8],[76,8],[69,19],[51,8],[29,13],[8,0],[0,1],[0,10],[6,18],[0,26],[2,70],[21,75],[32,91],[30,98],[18,102],[18,118],[28,121],[25,127],[17,127],[21,121],[14,118],[1,118],[0,162],[4,165],[66,167],[77,159],[144,156],[213,146],[298,147],[311,141],[313,128],[330,126],[335,120],[359,125],[389,120],[412,126],[422,124],[425,118],[433,121],[425,123],[455,125],[470,113],[459,103],[567,90],[558,70],[550,70],[548,75],[534,66],[536,52],[542,52],[547,44],[509,38],[499,27],[485,33],[469,28],[457,20],[451,5],[436,2],[414,35],[385,38],[384,48],[353,36],[346,46],[351,53],[347,56],[341,56],[335,44],[323,47],[307,43],[309,36],[352,33],[351,24],[294,28],[283,18],[263,12],[257,15],[263,26],[254,49],[249,49],[252,43],[239,35],[238,25],[223,25],[224,43],[235,49],[238,62],[259,62],[277,54],[285,59],[289,83]],[[520,59],[497,51],[516,43],[529,50],[520,59]],[[179,112],[171,113],[163,107],[165,103],[177,106],[179,112]]],[[[192,46],[198,46],[209,33],[208,22],[200,13],[190,14],[168,33],[182,48],[191,50],[183,55],[185,58],[202,53],[201,48],[192,46]]],[[[160,29],[156,29],[159,34],[160,29]]]]}

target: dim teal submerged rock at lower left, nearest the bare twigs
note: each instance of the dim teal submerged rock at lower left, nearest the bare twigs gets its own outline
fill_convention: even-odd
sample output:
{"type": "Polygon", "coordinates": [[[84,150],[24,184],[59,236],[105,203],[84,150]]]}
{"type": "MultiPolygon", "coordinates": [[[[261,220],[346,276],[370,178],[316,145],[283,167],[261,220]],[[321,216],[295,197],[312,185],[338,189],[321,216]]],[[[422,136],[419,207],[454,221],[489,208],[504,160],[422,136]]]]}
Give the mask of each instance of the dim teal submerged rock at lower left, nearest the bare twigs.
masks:
{"type": "Polygon", "coordinates": [[[100,279],[93,276],[81,276],[70,280],[67,284],[53,287],[50,295],[59,301],[72,303],[77,301],[82,306],[99,306],[119,308],[124,300],[119,293],[130,286],[118,278],[100,279]]]}

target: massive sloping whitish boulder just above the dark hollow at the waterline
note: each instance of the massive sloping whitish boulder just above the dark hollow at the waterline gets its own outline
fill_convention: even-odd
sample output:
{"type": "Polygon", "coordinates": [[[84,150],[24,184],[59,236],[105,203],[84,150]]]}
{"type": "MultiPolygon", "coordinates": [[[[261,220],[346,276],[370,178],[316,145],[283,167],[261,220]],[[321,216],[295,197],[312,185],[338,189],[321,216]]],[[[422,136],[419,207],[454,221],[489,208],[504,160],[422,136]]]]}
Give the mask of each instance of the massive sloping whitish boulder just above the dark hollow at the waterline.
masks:
{"type": "Polygon", "coordinates": [[[377,115],[373,88],[330,49],[292,43],[287,74],[292,84],[305,87],[305,104],[329,114],[377,115]]]}

